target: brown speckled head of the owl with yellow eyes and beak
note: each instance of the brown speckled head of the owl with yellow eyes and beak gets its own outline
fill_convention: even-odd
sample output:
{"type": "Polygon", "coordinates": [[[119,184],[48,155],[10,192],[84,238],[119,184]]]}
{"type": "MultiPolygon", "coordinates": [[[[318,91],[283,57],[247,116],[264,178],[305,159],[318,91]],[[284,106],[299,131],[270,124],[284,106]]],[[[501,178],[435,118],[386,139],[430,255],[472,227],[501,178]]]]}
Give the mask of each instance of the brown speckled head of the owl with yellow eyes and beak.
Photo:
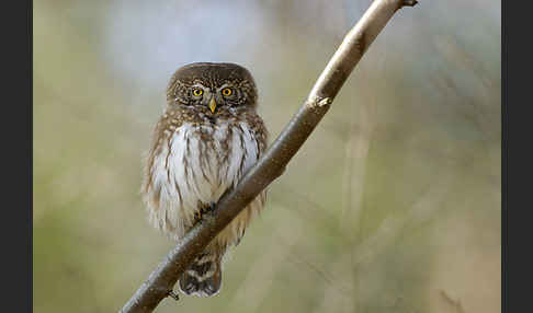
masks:
{"type": "Polygon", "coordinates": [[[196,106],[212,114],[230,107],[254,108],[257,98],[250,72],[234,63],[186,65],[174,72],[167,88],[169,105],[196,106]]]}

